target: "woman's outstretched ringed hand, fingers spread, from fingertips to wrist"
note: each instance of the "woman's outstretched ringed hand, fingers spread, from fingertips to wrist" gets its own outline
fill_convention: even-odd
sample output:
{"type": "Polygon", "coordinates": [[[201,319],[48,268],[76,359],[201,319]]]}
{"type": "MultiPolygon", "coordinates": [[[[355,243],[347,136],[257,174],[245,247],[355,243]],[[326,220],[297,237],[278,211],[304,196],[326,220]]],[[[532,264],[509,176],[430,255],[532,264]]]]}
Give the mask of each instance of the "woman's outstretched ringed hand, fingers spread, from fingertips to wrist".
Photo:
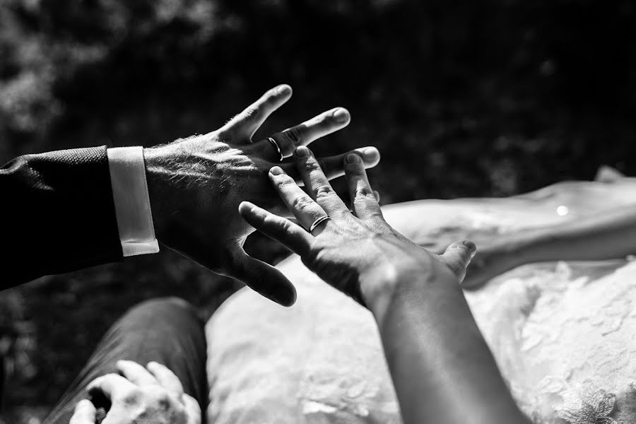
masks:
{"type": "Polygon", "coordinates": [[[464,278],[475,245],[455,242],[437,255],[391,228],[360,155],[351,153],[344,163],[353,212],[331,188],[308,148],[298,147],[294,160],[308,194],[281,167],[273,167],[269,178],[285,206],[310,232],[247,201],[239,211],[254,228],[298,253],[324,281],[372,307],[408,276],[430,283],[459,283],[464,278]]]}

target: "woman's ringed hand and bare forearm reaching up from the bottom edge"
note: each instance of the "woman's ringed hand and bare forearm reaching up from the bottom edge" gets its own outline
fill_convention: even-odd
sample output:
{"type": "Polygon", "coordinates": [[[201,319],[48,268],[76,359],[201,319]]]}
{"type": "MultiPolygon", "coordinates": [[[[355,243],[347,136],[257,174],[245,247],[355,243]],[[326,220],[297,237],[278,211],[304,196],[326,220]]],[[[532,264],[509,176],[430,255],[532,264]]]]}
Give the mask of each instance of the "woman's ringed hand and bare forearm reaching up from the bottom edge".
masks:
{"type": "Polygon", "coordinates": [[[309,149],[298,148],[294,158],[308,194],[280,167],[272,168],[270,179],[312,231],[247,202],[240,212],[370,309],[404,422],[526,423],[459,288],[475,246],[456,242],[437,255],[396,232],[382,216],[358,155],[348,155],[345,164],[353,213],[309,149]]]}

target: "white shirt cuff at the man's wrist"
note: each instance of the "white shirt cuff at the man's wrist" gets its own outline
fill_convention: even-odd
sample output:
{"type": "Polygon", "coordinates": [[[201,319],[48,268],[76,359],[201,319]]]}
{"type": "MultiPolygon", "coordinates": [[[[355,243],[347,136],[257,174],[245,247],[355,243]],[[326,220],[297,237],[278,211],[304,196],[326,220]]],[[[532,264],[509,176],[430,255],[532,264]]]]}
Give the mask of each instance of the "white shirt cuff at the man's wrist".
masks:
{"type": "Polygon", "coordinates": [[[143,148],[109,148],[106,154],[124,257],[159,252],[148,196],[143,148]]]}

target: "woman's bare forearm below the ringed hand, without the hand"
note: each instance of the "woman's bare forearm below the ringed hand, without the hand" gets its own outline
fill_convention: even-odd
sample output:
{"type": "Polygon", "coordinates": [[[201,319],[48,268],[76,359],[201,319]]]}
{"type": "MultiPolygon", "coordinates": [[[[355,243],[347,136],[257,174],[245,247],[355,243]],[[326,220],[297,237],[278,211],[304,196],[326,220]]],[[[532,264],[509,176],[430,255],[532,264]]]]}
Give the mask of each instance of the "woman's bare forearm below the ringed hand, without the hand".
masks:
{"type": "Polygon", "coordinates": [[[414,276],[370,302],[405,423],[526,423],[456,279],[414,276]]]}

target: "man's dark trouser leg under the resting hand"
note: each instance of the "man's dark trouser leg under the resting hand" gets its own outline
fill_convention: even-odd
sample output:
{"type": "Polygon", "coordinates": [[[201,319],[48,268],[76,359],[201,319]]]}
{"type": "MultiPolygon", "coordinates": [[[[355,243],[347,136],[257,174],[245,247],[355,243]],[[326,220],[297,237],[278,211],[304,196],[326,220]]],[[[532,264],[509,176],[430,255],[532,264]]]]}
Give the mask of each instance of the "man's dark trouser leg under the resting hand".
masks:
{"type": "Polygon", "coordinates": [[[146,366],[161,363],[181,380],[184,391],[207,404],[206,338],[204,322],[184,300],[148,300],[126,312],[102,338],[88,363],[43,424],[69,424],[78,401],[85,399],[93,379],[117,372],[117,360],[146,366]]]}

